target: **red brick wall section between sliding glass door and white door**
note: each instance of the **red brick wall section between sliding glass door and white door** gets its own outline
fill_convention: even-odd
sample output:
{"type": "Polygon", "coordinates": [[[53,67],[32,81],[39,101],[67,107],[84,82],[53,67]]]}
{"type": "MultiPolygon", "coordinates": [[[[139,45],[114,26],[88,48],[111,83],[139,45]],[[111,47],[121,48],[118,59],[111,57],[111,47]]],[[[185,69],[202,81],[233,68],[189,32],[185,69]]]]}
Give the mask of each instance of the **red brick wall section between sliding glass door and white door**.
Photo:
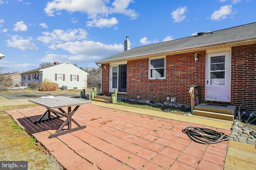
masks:
{"type": "Polygon", "coordinates": [[[127,97],[167,102],[166,96],[176,98],[176,103],[190,104],[190,85],[200,85],[199,100],[204,100],[205,51],[166,56],[166,79],[148,80],[148,59],[127,62],[127,97]]]}

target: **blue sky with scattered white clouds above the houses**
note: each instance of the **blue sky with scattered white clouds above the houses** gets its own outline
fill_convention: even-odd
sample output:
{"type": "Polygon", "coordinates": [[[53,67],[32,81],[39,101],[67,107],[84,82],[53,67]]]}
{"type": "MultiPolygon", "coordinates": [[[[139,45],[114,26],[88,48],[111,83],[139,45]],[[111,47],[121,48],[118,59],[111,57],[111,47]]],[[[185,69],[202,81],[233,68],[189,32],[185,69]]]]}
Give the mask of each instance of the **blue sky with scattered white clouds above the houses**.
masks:
{"type": "Polygon", "coordinates": [[[255,7],[256,0],[0,0],[0,68],[96,68],[124,51],[126,36],[132,49],[253,23],[255,7]]]}

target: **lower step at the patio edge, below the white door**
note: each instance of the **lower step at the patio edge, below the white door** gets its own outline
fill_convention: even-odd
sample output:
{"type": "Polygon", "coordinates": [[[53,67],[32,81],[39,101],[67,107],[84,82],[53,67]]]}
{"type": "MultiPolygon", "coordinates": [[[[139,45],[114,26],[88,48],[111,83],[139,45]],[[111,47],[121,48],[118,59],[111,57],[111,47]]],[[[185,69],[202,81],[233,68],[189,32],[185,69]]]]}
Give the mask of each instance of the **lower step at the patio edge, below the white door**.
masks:
{"type": "Polygon", "coordinates": [[[202,110],[193,110],[192,113],[193,115],[211,117],[215,119],[222,119],[222,120],[228,120],[228,121],[234,120],[234,115],[230,115],[230,114],[215,113],[211,111],[202,111],[202,110]]]}

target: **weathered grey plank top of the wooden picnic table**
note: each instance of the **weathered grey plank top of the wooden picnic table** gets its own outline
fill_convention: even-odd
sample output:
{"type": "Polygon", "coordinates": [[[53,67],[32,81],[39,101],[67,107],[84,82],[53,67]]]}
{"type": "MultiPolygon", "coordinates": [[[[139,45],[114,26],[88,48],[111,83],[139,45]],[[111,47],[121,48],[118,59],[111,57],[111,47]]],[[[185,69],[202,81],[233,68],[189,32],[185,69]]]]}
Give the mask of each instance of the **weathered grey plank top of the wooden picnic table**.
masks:
{"type": "Polygon", "coordinates": [[[56,96],[54,98],[38,98],[38,99],[30,99],[29,102],[33,102],[35,104],[39,104],[48,109],[56,109],[61,107],[71,107],[78,106],[82,104],[90,104],[88,100],[78,100],[76,98],[68,98],[64,96],[56,96]]]}

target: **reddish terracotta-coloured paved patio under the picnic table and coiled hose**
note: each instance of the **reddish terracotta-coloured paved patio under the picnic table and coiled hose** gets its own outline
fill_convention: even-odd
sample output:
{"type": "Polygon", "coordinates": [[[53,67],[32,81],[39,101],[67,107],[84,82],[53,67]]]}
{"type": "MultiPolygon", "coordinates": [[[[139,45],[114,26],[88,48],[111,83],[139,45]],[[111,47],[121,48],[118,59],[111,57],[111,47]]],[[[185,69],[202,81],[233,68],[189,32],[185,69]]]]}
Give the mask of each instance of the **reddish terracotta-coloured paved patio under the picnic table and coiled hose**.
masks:
{"type": "Polygon", "coordinates": [[[38,125],[26,119],[44,111],[41,106],[6,112],[68,170],[224,168],[227,141],[203,145],[191,141],[182,130],[204,127],[227,135],[230,130],[87,104],[73,115],[85,129],[49,139],[62,119],[38,125]]]}

